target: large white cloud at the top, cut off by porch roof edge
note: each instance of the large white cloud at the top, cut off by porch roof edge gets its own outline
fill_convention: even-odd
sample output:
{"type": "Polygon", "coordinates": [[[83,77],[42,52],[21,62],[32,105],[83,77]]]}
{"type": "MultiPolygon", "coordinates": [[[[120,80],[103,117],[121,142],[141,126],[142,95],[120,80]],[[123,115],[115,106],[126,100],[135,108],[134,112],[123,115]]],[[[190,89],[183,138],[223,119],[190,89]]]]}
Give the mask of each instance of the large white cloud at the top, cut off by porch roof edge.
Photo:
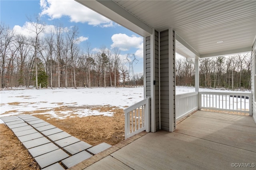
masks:
{"type": "Polygon", "coordinates": [[[40,15],[48,15],[52,20],[68,16],[71,22],[88,23],[92,26],[113,27],[117,25],[74,0],[40,0],[40,6],[42,8],[40,15]]]}

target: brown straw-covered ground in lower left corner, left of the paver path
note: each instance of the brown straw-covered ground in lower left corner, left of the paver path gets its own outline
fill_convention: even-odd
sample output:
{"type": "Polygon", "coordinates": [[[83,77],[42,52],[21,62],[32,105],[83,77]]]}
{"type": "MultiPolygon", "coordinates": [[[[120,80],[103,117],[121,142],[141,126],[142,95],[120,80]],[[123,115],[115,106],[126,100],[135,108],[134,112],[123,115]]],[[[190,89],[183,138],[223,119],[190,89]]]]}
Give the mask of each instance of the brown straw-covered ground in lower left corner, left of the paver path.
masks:
{"type": "Polygon", "coordinates": [[[0,170],[40,170],[28,150],[4,124],[0,124],[0,170]]]}

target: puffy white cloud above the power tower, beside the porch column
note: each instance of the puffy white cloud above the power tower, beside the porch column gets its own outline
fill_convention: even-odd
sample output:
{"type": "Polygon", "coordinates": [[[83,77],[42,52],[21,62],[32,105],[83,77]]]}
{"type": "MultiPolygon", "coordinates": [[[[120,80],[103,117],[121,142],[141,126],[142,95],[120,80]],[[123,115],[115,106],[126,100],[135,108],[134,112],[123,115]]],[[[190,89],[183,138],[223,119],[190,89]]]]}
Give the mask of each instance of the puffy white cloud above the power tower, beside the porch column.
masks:
{"type": "Polygon", "coordinates": [[[143,58],[143,38],[136,36],[127,36],[126,34],[114,34],[111,47],[118,47],[121,51],[128,51],[130,48],[137,48],[136,57],[143,58]]]}

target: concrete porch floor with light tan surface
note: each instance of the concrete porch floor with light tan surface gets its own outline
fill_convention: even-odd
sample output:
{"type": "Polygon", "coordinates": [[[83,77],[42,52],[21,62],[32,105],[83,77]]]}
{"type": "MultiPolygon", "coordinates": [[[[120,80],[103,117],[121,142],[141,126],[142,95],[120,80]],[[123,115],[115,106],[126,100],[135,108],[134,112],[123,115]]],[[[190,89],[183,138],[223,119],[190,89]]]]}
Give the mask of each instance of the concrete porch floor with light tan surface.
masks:
{"type": "Polygon", "coordinates": [[[134,140],[126,146],[112,146],[70,169],[256,168],[256,124],[250,116],[197,111],[180,122],[174,132],[142,132],[134,137],[138,139],[132,138],[123,142],[134,140]]]}

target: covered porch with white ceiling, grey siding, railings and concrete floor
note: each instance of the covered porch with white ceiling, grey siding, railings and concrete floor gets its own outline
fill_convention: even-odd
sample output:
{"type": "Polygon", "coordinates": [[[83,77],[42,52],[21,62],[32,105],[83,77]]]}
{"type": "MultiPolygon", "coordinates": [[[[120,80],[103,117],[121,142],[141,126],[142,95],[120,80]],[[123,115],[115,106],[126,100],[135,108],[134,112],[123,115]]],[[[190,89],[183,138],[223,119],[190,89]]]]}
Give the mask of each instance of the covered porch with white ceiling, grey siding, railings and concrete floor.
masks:
{"type": "Polygon", "coordinates": [[[255,1],[76,1],[144,37],[144,100],[125,109],[124,142],[71,169],[255,166],[255,1]],[[252,93],[200,92],[200,59],[244,52],[251,53],[252,93]],[[195,93],[176,95],[176,53],[195,61],[195,93]],[[196,111],[179,123],[200,109],[216,112],[196,111]]]}

